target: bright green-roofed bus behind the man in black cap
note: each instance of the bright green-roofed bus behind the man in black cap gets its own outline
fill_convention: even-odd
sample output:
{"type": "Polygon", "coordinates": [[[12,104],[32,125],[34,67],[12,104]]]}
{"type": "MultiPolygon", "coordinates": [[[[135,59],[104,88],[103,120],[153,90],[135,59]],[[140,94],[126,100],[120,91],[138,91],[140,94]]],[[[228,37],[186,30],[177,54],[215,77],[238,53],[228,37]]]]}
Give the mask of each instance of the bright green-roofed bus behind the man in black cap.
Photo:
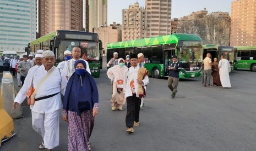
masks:
{"type": "Polygon", "coordinates": [[[154,78],[167,77],[171,56],[177,55],[182,63],[179,78],[201,76],[203,45],[200,37],[194,34],[171,34],[166,36],[135,39],[107,44],[107,61],[117,52],[123,59],[129,54],[144,54],[145,68],[154,78]]]}

